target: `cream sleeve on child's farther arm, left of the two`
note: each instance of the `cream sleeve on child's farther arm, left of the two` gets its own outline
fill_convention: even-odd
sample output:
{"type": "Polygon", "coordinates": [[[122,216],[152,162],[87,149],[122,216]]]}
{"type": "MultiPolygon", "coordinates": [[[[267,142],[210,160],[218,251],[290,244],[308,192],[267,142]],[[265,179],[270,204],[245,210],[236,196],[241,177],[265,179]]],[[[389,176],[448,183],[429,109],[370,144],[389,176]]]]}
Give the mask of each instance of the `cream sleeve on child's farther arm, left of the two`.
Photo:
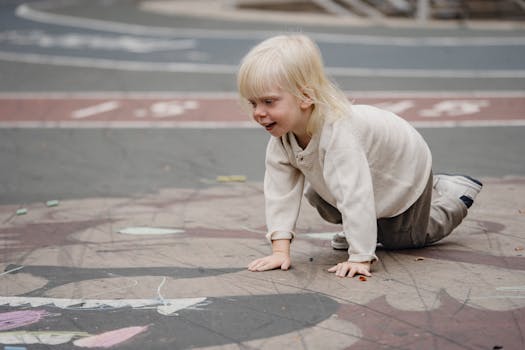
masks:
{"type": "Polygon", "coordinates": [[[290,163],[281,139],[272,137],[264,175],[268,240],[294,238],[303,187],[304,175],[290,163]]]}

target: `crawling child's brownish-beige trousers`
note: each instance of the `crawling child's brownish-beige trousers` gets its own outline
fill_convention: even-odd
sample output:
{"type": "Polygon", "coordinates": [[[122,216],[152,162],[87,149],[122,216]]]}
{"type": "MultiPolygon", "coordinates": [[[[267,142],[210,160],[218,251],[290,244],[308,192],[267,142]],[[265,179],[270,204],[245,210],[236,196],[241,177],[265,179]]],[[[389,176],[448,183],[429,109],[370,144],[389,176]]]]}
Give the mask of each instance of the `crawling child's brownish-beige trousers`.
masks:
{"type": "MultiPolygon", "coordinates": [[[[305,197],[326,221],[342,223],[339,210],[311,188],[306,190],[305,197]]],[[[467,206],[459,198],[442,195],[433,188],[430,173],[425,190],[410,208],[397,216],[377,220],[377,242],[386,249],[421,248],[448,236],[466,215],[467,206]]]]}

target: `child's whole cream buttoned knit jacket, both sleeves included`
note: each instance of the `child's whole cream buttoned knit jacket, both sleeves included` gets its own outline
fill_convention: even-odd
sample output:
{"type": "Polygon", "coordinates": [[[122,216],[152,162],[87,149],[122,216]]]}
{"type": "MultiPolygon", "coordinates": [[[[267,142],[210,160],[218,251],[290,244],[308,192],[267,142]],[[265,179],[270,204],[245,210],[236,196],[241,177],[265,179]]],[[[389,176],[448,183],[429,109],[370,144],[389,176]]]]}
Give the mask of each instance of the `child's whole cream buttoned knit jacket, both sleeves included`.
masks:
{"type": "Polygon", "coordinates": [[[407,210],[432,167],[421,135],[395,114],[352,105],[302,149],[292,133],[266,150],[264,194],[269,240],[293,238],[305,183],[342,215],[349,261],[377,259],[377,219],[407,210]]]}

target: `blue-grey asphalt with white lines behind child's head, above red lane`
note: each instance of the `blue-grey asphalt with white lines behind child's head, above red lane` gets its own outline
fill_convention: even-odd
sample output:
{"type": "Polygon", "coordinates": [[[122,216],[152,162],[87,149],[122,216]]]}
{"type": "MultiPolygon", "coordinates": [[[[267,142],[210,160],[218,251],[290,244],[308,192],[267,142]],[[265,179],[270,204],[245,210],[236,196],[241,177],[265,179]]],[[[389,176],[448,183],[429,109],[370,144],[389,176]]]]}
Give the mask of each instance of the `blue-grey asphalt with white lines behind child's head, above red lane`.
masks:
{"type": "Polygon", "coordinates": [[[348,91],[525,88],[520,32],[269,27],[162,16],[133,1],[23,3],[0,5],[0,91],[233,91],[244,53],[290,31],[318,42],[348,91]]]}

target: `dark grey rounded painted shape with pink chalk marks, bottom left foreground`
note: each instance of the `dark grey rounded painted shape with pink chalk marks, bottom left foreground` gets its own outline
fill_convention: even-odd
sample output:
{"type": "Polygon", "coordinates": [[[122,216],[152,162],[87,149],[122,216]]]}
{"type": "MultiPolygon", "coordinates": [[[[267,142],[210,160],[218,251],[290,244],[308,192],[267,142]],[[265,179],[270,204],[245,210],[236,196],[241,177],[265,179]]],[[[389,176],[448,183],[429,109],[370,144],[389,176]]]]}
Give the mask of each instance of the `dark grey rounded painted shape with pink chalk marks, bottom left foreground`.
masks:
{"type": "MultiPolygon", "coordinates": [[[[28,305],[11,307],[27,309],[28,305]]],[[[0,306],[0,310],[3,307],[0,306]]],[[[147,307],[101,308],[93,311],[63,308],[60,309],[60,317],[54,318],[52,324],[46,323],[38,330],[0,332],[0,342],[59,345],[73,341],[75,346],[103,347],[109,345],[111,338],[126,341],[131,339],[127,338],[129,336],[145,333],[145,337],[150,340],[162,338],[168,348],[220,346],[316,327],[329,320],[339,307],[339,303],[327,296],[300,292],[210,297],[203,303],[180,309],[178,315],[162,315],[147,307]],[[81,329],[83,332],[69,330],[72,319],[75,320],[75,330],[81,329]],[[130,320],[137,319],[147,321],[142,325],[129,324],[130,320]],[[108,324],[113,329],[100,330],[108,324]],[[198,332],[195,332],[196,327],[198,332]]],[[[54,306],[41,308],[52,310],[54,306]]],[[[138,348],[145,346],[139,343],[139,339],[133,341],[138,342],[138,348]]]]}

